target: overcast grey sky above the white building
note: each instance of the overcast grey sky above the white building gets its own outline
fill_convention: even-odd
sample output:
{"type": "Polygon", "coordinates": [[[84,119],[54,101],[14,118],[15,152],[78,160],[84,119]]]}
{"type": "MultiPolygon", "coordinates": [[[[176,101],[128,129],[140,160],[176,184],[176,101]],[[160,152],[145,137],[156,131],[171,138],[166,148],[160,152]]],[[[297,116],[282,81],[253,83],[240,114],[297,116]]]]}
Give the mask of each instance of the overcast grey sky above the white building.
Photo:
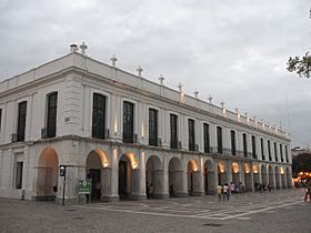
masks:
{"type": "Polygon", "coordinates": [[[258,120],[311,143],[311,79],[285,70],[311,47],[310,0],[0,0],[0,80],[69,52],[88,55],[258,120]]]}

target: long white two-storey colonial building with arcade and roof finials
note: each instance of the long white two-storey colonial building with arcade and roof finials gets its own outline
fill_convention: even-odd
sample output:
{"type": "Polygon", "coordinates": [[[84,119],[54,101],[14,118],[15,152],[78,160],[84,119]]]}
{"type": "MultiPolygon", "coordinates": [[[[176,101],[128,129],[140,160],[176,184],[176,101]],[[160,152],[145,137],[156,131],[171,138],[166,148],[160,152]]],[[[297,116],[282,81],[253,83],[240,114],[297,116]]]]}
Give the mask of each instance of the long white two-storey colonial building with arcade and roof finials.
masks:
{"type": "Polygon", "coordinates": [[[86,45],[0,83],[0,196],[78,202],[290,188],[289,134],[86,55],[86,45]],[[58,188],[58,189],[56,189],[58,188]]]}

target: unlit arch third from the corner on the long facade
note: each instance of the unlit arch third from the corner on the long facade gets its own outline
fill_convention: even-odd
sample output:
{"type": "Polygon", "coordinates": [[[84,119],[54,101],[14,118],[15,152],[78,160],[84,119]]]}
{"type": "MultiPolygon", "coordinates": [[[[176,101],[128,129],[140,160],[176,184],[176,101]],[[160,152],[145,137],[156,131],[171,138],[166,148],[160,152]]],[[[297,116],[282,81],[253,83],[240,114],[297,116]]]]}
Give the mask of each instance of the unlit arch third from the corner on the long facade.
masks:
{"type": "Polygon", "coordinates": [[[146,164],[146,186],[147,197],[162,197],[163,195],[163,169],[161,160],[157,155],[151,155],[146,164]],[[152,193],[148,193],[152,185],[152,193]]]}

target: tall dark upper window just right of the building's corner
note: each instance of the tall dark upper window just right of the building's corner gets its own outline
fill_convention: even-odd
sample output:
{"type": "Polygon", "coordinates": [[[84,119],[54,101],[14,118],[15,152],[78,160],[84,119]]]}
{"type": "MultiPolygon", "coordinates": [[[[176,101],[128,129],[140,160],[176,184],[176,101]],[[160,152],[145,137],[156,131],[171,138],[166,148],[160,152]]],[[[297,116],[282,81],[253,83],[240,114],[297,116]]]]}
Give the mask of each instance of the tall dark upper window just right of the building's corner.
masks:
{"type": "Polygon", "coordinates": [[[102,94],[93,94],[93,116],[92,116],[92,136],[96,139],[104,139],[106,125],[106,97],[102,94]]]}

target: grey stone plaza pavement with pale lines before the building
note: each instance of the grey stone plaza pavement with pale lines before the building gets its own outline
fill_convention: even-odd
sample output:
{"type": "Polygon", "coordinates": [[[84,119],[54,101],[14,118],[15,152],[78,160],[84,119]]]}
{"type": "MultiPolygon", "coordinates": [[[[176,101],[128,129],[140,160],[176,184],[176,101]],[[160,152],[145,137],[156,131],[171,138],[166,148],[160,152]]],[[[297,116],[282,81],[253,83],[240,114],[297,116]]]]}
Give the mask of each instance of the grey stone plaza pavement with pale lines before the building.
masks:
{"type": "Polygon", "coordinates": [[[301,190],[61,206],[0,199],[0,232],[311,232],[301,190]]]}

